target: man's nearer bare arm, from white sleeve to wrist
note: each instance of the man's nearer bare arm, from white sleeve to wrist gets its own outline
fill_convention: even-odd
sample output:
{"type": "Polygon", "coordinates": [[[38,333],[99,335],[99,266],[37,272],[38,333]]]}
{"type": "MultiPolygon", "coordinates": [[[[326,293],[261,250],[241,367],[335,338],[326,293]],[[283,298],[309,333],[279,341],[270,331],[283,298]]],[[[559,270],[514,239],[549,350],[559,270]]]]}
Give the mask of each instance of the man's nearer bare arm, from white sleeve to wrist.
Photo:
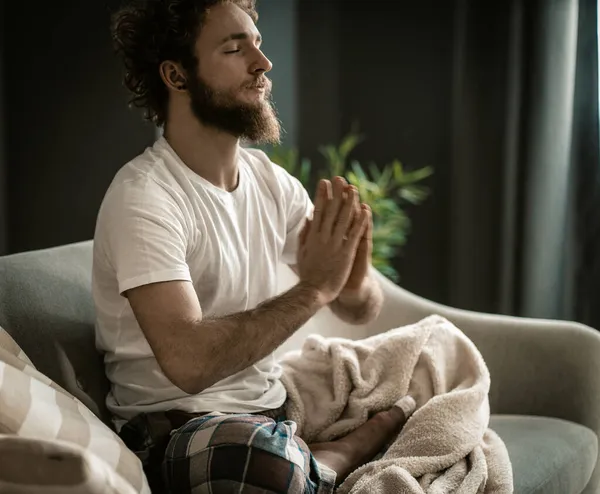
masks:
{"type": "Polygon", "coordinates": [[[171,382],[196,394],[272,353],[323,305],[302,282],[255,309],[203,318],[191,283],[134,288],[127,298],[171,382]]]}

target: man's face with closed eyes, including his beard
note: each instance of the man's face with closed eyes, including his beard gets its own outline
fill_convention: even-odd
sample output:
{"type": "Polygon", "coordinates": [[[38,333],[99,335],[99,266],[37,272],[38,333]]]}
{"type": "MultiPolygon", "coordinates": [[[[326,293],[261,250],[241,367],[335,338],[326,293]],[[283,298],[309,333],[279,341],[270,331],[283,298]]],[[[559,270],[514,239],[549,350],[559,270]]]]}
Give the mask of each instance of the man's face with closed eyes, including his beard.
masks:
{"type": "Polygon", "coordinates": [[[277,143],[271,62],[254,22],[233,4],[213,7],[196,42],[197,73],[188,74],[192,111],[202,123],[257,143],[277,143]]]}

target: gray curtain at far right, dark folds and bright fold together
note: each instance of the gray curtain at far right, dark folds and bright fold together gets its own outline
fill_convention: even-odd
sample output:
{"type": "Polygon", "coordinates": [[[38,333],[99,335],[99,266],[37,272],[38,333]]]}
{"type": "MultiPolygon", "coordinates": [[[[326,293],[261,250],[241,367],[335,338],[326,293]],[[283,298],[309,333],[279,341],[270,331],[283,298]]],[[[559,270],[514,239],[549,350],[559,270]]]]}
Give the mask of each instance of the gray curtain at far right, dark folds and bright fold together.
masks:
{"type": "Polygon", "coordinates": [[[578,185],[598,168],[596,1],[464,0],[456,15],[449,302],[581,320],[598,258],[578,185]]]}

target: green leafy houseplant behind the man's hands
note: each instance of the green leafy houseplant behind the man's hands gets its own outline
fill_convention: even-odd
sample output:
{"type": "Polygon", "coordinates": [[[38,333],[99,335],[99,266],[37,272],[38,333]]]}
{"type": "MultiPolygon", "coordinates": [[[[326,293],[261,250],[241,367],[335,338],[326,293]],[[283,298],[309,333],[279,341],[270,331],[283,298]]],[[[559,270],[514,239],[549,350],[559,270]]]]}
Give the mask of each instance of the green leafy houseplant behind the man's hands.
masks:
{"type": "Polygon", "coordinates": [[[359,133],[351,131],[339,145],[322,146],[319,151],[325,163],[317,169],[310,160],[301,158],[295,148],[276,147],[269,156],[298,178],[310,194],[319,179],[338,175],[356,186],[361,201],[373,211],[373,266],[391,280],[398,281],[393,260],[406,244],[411,226],[405,207],[421,204],[428,197],[430,191],[421,182],[433,170],[424,167],[408,171],[399,160],[381,167],[375,163],[361,165],[350,159],[350,154],[362,140],[359,133]]]}

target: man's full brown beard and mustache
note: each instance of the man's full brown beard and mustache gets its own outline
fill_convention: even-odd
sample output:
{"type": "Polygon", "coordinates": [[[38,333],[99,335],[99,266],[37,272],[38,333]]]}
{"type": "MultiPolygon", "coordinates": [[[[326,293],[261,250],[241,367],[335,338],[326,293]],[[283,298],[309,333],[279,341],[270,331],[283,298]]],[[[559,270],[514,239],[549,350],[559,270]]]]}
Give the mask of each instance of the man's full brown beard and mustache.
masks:
{"type": "Polygon", "coordinates": [[[256,103],[240,102],[236,98],[238,91],[215,90],[199,76],[189,82],[192,112],[201,123],[256,144],[279,144],[281,125],[271,101],[271,84],[265,76],[238,90],[264,84],[264,99],[256,103]]]}

